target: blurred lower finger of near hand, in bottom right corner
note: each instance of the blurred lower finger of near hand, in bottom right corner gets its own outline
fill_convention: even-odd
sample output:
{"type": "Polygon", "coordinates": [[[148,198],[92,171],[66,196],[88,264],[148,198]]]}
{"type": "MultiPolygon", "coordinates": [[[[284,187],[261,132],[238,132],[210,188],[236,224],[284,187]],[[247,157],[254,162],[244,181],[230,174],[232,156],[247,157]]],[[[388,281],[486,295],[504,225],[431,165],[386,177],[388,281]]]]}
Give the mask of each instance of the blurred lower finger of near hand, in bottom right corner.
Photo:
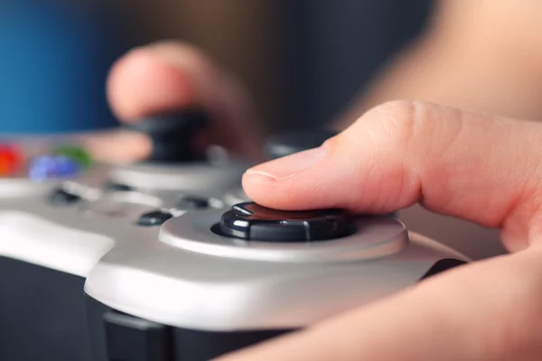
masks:
{"type": "Polygon", "coordinates": [[[221,361],[542,359],[542,251],[460,266],[221,361]]]}

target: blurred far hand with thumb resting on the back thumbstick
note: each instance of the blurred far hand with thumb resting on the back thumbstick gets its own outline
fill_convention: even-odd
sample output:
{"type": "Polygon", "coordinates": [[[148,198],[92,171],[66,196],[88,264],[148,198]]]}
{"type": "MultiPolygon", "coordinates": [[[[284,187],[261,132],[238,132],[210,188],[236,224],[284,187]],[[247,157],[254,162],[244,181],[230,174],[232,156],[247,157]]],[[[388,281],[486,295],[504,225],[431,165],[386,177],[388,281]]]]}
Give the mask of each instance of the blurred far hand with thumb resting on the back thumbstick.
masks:
{"type": "MultiPolygon", "coordinates": [[[[130,51],[111,69],[107,97],[123,123],[203,106],[211,126],[198,143],[219,144],[244,158],[262,160],[263,135],[248,95],[236,79],[190,45],[159,42],[130,51]]],[[[152,146],[145,135],[127,132],[93,134],[83,142],[98,161],[113,163],[145,159],[152,146]]]]}

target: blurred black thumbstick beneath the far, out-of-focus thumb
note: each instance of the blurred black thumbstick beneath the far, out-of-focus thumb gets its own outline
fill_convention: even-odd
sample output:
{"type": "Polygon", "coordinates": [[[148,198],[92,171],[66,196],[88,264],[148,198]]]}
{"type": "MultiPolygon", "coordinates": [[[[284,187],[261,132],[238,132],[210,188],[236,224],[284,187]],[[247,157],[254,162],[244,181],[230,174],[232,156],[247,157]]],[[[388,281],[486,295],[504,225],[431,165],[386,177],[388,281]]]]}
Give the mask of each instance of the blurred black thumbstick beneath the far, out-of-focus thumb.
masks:
{"type": "Polygon", "coordinates": [[[153,153],[147,159],[157,162],[192,162],[202,155],[193,145],[193,137],[205,125],[207,115],[202,108],[193,107],[180,112],[148,116],[125,127],[151,137],[153,153]]]}

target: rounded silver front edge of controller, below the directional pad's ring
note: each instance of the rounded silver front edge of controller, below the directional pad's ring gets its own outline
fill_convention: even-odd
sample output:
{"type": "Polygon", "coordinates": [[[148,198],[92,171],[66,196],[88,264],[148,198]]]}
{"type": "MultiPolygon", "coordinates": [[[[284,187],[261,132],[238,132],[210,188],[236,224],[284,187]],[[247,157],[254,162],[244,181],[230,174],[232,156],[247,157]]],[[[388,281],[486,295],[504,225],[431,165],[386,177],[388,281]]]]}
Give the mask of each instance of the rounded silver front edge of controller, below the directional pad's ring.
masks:
{"type": "Polygon", "coordinates": [[[299,328],[399,292],[455,256],[416,238],[385,257],[316,263],[238,259],[157,242],[139,252],[112,250],[85,289],[112,308],[174,327],[299,328]]]}

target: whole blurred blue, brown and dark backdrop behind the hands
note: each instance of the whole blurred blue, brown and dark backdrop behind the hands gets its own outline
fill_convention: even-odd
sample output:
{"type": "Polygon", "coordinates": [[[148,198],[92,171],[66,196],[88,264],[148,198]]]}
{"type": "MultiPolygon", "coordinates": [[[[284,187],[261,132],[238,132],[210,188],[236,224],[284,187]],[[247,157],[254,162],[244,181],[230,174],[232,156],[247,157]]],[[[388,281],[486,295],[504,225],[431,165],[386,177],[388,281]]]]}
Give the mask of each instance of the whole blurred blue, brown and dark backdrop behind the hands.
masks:
{"type": "MultiPolygon", "coordinates": [[[[270,132],[322,125],[425,29],[431,0],[2,0],[0,132],[117,125],[107,71],[129,49],[192,42],[242,79],[270,132]]],[[[481,257],[497,233],[421,208],[406,224],[481,257]],[[458,227],[461,226],[461,227],[458,227]]]]}

